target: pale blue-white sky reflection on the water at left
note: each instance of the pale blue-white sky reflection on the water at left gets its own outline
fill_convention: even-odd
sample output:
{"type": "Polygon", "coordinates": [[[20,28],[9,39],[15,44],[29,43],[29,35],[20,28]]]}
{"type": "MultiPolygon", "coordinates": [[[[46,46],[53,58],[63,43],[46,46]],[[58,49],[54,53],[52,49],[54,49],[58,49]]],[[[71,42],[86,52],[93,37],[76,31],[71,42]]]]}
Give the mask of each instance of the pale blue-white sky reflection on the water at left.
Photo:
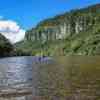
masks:
{"type": "Polygon", "coordinates": [[[9,87],[18,84],[31,85],[32,59],[5,58],[0,60],[0,86],[9,87]]]}

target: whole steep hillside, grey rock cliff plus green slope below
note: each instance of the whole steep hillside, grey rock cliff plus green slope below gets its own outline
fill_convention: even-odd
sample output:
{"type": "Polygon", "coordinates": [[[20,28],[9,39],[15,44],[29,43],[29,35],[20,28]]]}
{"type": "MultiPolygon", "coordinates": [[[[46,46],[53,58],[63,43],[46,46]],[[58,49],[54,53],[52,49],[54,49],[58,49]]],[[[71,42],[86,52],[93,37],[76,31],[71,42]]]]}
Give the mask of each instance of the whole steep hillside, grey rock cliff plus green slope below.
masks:
{"type": "Polygon", "coordinates": [[[63,51],[64,55],[87,55],[92,54],[89,53],[91,50],[100,47],[99,30],[100,4],[97,4],[40,22],[35,28],[26,32],[24,41],[19,45],[24,50],[29,49],[32,54],[41,51],[44,54],[48,51],[46,55],[54,55],[55,52],[63,51]],[[92,44],[93,41],[96,43],[92,44]],[[89,42],[91,43],[88,44],[89,42]]]}

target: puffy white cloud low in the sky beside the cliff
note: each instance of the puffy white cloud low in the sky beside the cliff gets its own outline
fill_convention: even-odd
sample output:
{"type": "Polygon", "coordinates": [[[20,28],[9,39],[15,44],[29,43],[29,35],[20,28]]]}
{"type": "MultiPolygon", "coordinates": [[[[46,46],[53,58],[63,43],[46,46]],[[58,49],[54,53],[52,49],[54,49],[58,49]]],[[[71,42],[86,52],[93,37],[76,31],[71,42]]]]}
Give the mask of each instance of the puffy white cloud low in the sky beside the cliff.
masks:
{"type": "Polygon", "coordinates": [[[12,43],[21,41],[25,36],[25,30],[12,20],[0,20],[0,33],[12,43]]]}

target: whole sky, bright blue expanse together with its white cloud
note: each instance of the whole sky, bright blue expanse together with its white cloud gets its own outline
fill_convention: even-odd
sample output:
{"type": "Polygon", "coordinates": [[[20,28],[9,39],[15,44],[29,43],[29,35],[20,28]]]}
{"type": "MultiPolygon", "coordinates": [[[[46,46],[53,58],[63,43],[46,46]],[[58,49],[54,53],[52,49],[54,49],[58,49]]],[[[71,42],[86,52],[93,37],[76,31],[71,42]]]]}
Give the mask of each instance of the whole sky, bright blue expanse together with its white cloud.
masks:
{"type": "Polygon", "coordinates": [[[100,0],[0,0],[0,32],[15,43],[41,20],[100,0]]]}

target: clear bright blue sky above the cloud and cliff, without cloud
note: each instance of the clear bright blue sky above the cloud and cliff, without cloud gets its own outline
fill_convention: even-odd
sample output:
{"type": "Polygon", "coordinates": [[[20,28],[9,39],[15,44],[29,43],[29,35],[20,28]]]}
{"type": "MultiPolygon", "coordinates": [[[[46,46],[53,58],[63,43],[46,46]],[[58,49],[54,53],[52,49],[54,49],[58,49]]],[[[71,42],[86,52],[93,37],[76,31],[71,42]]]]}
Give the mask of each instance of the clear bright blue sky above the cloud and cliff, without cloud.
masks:
{"type": "Polygon", "coordinates": [[[56,14],[100,3],[100,0],[0,0],[0,16],[29,29],[56,14]]]}

